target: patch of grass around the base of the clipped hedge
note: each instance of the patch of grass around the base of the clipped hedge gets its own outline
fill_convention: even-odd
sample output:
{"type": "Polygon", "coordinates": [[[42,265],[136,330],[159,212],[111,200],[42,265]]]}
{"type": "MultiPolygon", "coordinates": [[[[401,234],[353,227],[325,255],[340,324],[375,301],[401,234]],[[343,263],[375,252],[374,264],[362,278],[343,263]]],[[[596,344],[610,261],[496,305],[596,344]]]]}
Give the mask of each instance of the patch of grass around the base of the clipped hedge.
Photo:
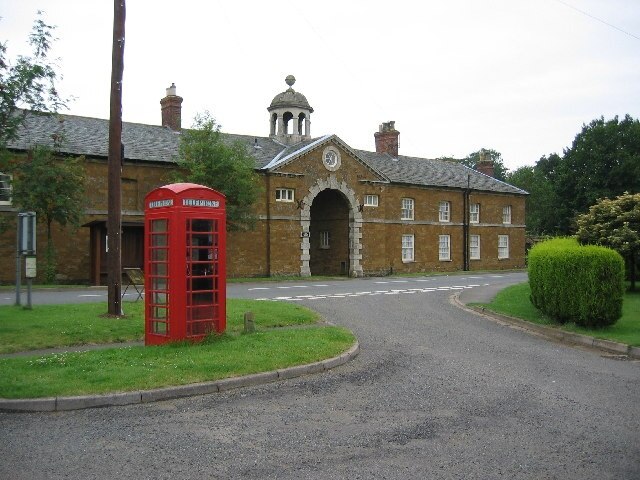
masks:
{"type": "Polygon", "coordinates": [[[569,332],[613,340],[627,345],[640,346],[640,292],[625,293],[622,317],[613,325],[605,328],[584,328],[575,323],[556,323],[533,306],[530,296],[531,289],[527,282],[505,288],[496,295],[491,303],[475,305],[532,323],[549,325],[569,332]]]}

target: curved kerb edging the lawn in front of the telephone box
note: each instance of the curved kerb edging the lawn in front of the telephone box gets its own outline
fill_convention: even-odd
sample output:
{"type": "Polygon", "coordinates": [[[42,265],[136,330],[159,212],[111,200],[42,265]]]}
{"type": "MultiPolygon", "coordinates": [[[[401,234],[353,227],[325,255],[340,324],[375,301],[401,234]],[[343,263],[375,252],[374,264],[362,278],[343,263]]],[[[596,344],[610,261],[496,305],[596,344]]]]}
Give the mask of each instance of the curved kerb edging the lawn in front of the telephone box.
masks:
{"type": "Polygon", "coordinates": [[[264,385],[290,378],[321,373],[338,367],[355,358],[360,353],[360,344],[356,343],[337,357],[320,362],[295,367],[283,368],[272,372],[254,373],[243,377],[225,378],[214,382],[178,385],[174,387],[156,388],[134,392],[119,392],[105,395],[83,395],[77,397],[47,397],[8,399],[0,398],[0,411],[5,412],[54,412],[81,410],[84,408],[110,407],[116,405],[132,405],[137,403],[157,402],[175,398],[206,395],[224,392],[235,388],[264,385]]]}

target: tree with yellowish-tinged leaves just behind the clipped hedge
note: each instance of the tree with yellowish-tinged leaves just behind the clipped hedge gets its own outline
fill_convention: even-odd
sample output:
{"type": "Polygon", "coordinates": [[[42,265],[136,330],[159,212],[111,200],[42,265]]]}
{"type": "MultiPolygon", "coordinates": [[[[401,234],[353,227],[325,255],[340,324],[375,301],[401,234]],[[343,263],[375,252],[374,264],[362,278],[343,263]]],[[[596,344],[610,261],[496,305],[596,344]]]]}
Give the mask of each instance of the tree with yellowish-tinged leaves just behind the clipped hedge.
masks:
{"type": "Polygon", "coordinates": [[[640,255],[640,193],[625,192],[613,200],[598,200],[588,213],[578,216],[577,223],[580,243],[610,247],[625,258],[631,290],[635,290],[640,255]]]}

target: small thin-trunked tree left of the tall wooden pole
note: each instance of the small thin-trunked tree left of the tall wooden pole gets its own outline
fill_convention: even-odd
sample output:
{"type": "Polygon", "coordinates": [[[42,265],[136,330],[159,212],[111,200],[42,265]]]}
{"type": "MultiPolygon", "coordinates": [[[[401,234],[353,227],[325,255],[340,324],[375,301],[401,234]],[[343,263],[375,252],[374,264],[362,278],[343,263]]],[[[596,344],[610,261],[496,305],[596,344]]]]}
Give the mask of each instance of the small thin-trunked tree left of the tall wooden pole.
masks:
{"type": "Polygon", "coordinates": [[[52,240],[54,222],[77,226],[84,211],[84,158],[56,156],[52,149],[36,145],[26,161],[17,161],[13,173],[13,203],[36,212],[47,228],[45,280],[55,281],[56,254],[52,240]]]}

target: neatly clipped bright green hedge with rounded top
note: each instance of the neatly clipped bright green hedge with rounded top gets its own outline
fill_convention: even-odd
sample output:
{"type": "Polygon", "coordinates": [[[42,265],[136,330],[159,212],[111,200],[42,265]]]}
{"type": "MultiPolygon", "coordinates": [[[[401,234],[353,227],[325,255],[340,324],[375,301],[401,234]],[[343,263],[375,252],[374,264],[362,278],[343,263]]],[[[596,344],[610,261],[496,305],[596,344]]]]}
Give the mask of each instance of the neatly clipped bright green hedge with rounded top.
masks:
{"type": "Polygon", "coordinates": [[[558,322],[612,325],[622,316],[624,261],[605,247],[573,238],[537,244],[529,252],[531,302],[558,322]]]}

